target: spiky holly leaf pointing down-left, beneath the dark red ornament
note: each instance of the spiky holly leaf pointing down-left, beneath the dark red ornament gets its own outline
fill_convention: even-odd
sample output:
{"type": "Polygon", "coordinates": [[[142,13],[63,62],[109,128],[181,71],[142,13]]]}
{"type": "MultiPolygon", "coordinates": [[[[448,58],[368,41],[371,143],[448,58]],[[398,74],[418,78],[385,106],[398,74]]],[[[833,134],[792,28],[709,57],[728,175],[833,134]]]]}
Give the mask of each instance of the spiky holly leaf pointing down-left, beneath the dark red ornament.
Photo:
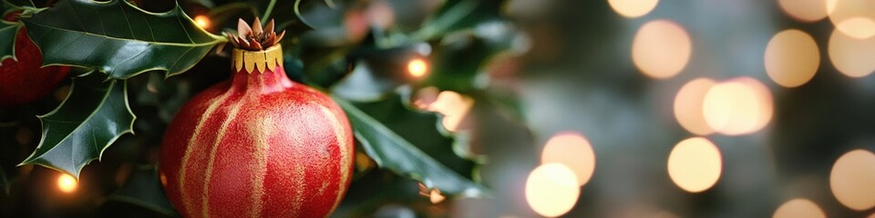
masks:
{"type": "Polygon", "coordinates": [[[82,167],[99,160],[109,144],[133,133],[137,117],[130,111],[126,86],[96,72],[73,79],[67,99],[39,116],[43,137],[34,154],[19,165],[43,165],[78,177],[82,167]]]}

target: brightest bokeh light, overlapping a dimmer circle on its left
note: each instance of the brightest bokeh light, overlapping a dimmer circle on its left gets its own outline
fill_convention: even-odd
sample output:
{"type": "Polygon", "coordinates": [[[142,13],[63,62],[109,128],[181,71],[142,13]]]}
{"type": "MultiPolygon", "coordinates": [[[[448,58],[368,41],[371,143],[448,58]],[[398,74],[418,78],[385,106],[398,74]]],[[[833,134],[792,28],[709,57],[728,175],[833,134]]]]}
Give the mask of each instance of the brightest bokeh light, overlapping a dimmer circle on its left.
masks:
{"type": "Polygon", "coordinates": [[[768,124],[774,113],[772,94],[765,84],[739,77],[715,84],[702,105],[705,122],[717,133],[750,134],[768,124]]]}

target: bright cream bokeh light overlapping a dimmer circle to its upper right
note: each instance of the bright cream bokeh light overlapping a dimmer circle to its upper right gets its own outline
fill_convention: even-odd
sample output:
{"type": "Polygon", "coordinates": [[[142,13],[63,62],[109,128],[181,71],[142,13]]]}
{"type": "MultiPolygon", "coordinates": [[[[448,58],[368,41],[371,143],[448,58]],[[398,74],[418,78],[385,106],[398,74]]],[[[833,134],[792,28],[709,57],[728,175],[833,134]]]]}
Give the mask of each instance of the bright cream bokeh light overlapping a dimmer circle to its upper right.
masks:
{"type": "Polygon", "coordinates": [[[526,180],[526,201],[536,213],[557,217],[568,213],[581,190],[571,168],[562,163],[538,166],[526,180]]]}

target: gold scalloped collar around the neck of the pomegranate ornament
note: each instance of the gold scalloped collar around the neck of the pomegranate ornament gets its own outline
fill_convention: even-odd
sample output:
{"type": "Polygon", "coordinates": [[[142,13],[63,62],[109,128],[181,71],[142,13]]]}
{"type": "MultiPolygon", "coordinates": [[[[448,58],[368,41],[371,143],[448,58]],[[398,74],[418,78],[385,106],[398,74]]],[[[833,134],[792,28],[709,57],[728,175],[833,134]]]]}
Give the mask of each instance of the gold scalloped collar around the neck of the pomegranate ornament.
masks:
{"type": "Polygon", "coordinates": [[[258,70],[259,73],[264,73],[265,70],[273,71],[277,65],[283,66],[283,46],[277,44],[263,51],[234,48],[231,58],[237,72],[242,69],[245,69],[246,73],[249,74],[256,72],[255,70],[258,70]]]}

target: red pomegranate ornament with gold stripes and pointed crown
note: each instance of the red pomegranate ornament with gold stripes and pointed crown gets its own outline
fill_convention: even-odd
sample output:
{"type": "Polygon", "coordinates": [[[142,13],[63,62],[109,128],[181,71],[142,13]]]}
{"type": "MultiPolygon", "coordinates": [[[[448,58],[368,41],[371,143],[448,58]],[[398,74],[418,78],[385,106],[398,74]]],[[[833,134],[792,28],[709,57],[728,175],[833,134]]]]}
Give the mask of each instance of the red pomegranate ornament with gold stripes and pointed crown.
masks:
{"type": "Polygon", "coordinates": [[[281,34],[240,21],[232,78],[180,108],[160,152],[185,217],[325,217],[349,186],[354,144],[330,97],[289,80],[281,34]]]}

